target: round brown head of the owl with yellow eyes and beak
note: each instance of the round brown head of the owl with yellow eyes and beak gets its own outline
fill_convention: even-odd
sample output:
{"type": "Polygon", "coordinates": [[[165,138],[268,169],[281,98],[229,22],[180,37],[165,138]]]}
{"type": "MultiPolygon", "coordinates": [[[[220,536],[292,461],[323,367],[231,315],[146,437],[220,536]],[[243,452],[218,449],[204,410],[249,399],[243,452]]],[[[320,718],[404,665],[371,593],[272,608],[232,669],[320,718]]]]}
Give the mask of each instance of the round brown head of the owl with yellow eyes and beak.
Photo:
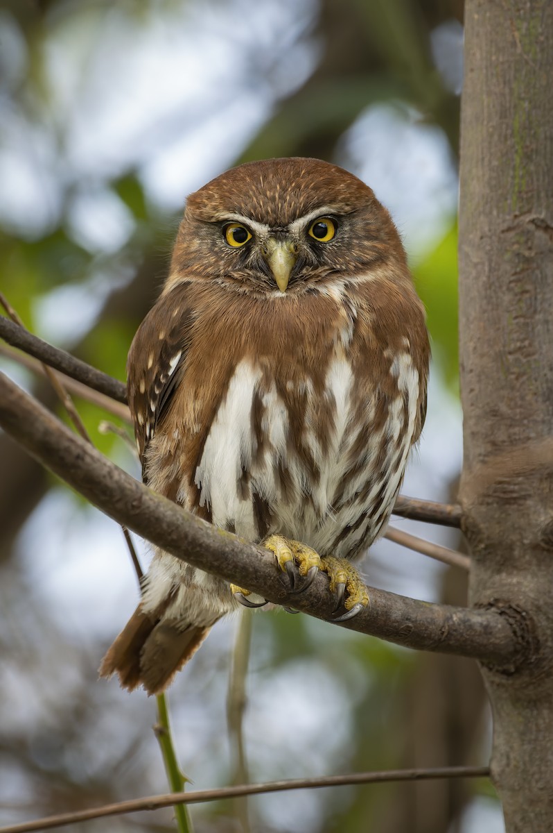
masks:
{"type": "Polygon", "coordinates": [[[382,267],[402,279],[405,252],[364,182],[319,159],[267,159],[188,197],[165,289],[194,278],[289,296],[382,267]]]}

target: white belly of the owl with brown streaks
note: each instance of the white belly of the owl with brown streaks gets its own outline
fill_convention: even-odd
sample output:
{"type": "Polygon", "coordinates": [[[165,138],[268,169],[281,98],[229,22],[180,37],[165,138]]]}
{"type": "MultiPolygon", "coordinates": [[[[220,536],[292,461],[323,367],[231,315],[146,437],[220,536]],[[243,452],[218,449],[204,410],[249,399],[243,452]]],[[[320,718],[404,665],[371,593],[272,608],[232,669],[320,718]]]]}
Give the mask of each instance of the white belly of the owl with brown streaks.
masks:
{"type": "Polygon", "coordinates": [[[407,354],[390,378],[395,396],[358,380],[338,348],[312,375],[239,362],[195,468],[198,505],[252,541],[279,532],[321,555],[356,555],[388,520],[412,442],[407,354]]]}

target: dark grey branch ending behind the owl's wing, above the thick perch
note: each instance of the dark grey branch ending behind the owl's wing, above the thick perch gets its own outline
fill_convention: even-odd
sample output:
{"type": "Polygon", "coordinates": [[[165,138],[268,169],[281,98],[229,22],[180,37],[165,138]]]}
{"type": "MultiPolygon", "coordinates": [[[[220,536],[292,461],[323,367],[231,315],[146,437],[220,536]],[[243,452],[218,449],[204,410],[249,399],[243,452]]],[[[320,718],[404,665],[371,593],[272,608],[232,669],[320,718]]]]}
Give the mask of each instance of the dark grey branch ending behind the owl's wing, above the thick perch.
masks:
{"type": "Polygon", "coordinates": [[[78,382],[104,393],[106,397],[111,397],[116,402],[126,403],[126,389],[123,382],[96,370],[96,367],[91,367],[86,362],[81,362],[80,359],[65,350],[60,350],[59,347],[52,347],[52,344],[43,342],[42,338],[33,336],[32,333],[17,327],[17,324],[2,316],[0,316],[0,337],[12,347],[29,353],[48,367],[53,367],[72,379],[77,379],[78,382]]]}

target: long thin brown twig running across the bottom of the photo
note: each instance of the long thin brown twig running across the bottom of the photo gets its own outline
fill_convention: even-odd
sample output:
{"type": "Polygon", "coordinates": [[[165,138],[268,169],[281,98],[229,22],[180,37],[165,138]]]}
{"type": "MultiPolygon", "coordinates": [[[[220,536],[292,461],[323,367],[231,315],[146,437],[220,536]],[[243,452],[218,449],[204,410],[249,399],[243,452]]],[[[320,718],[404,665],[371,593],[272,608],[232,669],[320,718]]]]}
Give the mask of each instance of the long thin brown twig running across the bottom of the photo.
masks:
{"type": "Polygon", "coordinates": [[[383,772],[356,772],[349,776],[322,776],[319,778],[298,778],[290,781],[268,781],[265,784],[247,784],[244,786],[227,786],[219,790],[197,790],[168,796],[148,796],[134,801],[120,801],[117,804],[106,804],[91,810],[81,810],[74,813],[61,813],[58,816],[47,816],[36,821],[24,821],[22,824],[0,827],[0,833],[35,833],[35,831],[51,830],[52,827],[62,827],[76,824],[79,821],[106,818],[106,816],[122,816],[126,813],[136,813],[143,810],[159,810],[169,807],[175,801],[185,804],[198,804],[201,801],[222,801],[236,796],[259,796],[269,792],[285,790],[316,790],[329,786],[352,786],[357,784],[382,784],[388,781],[433,781],[441,778],[488,778],[490,770],[487,766],[443,766],[427,770],[390,770],[383,772]]]}

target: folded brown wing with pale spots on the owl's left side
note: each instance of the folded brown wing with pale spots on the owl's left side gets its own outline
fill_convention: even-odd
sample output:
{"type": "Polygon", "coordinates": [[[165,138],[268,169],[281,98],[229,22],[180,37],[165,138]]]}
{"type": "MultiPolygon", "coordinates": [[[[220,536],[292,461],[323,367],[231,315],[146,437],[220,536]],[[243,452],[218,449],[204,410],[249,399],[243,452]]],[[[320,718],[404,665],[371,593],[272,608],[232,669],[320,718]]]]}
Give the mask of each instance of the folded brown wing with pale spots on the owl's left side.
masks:
{"type": "Polygon", "coordinates": [[[194,319],[183,293],[174,290],[160,297],[132,341],[126,390],[142,465],[148,443],[184,375],[194,319]]]}

